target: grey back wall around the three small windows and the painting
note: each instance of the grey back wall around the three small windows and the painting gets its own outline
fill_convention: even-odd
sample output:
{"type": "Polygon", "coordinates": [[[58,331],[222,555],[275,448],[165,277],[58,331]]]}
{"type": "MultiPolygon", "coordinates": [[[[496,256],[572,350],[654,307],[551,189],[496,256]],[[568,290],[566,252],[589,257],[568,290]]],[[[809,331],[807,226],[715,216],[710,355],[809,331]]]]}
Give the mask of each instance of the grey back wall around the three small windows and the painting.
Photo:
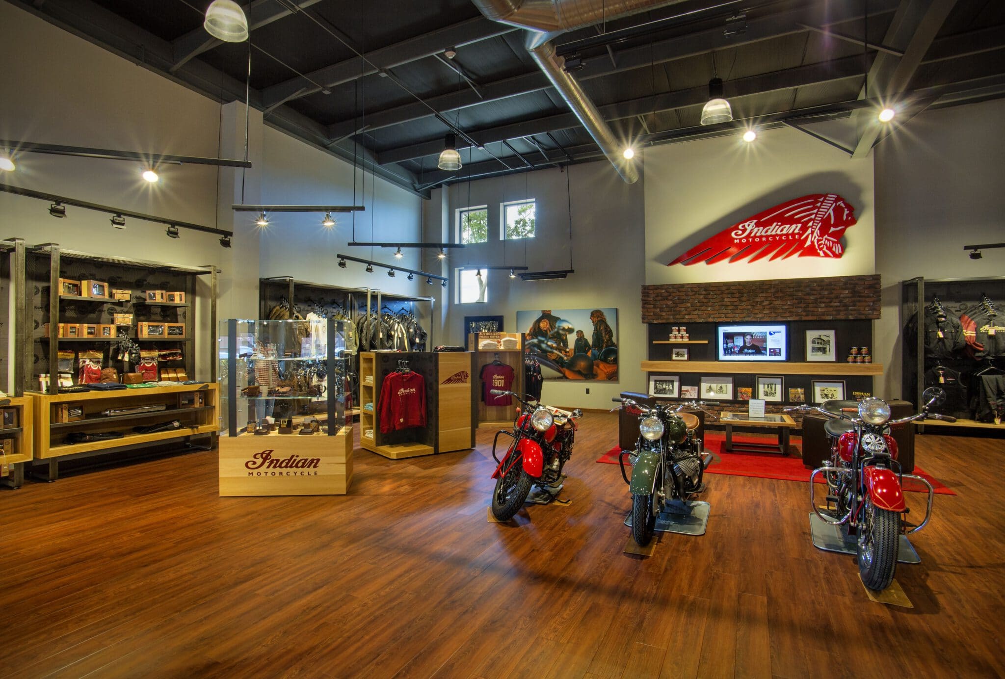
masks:
{"type": "MultiPolygon", "coordinates": [[[[644,179],[625,184],[607,161],[576,165],[566,172],[541,170],[512,177],[486,179],[434,191],[425,211],[427,237],[439,238],[442,218],[449,216],[452,240],[458,207],[488,205],[488,238],[450,252],[448,264],[452,298],[453,269],[465,264],[527,265],[532,271],[569,268],[569,193],[572,197],[572,268],[565,280],[511,280],[508,271],[489,273],[486,303],[451,304],[446,316],[445,336],[451,344],[466,345],[462,337],[465,315],[504,316],[507,331],[525,331],[517,326],[517,311],[551,308],[618,309],[617,382],[550,380],[542,397],[558,405],[580,408],[610,408],[612,396],[644,388],[639,362],[645,358],[645,326],[640,322],[643,261],[644,179]],[[569,173],[567,175],[567,173],[569,173]],[[499,203],[533,198],[537,201],[537,231],[534,239],[499,241],[499,203]],[[443,203],[446,203],[444,206],[443,203]],[[590,394],[586,394],[586,390],[590,394]]],[[[582,328],[587,336],[592,328],[582,328]]]]}

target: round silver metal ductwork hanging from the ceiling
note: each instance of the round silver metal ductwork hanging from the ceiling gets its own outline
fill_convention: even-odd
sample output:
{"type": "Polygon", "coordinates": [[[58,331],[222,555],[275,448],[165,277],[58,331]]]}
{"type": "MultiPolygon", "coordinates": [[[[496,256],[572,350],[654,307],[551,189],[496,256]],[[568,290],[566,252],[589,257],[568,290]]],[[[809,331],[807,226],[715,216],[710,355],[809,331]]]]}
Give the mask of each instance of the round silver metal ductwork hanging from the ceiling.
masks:
{"type": "Polygon", "coordinates": [[[683,0],[471,0],[492,21],[530,31],[525,41],[535,63],[590,133],[604,155],[628,184],[638,181],[638,169],[622,155],[610,126],[582,85],[565,70],[565,58],[555,53],[551,39],[565,31],[619,19],[683,0]]]}

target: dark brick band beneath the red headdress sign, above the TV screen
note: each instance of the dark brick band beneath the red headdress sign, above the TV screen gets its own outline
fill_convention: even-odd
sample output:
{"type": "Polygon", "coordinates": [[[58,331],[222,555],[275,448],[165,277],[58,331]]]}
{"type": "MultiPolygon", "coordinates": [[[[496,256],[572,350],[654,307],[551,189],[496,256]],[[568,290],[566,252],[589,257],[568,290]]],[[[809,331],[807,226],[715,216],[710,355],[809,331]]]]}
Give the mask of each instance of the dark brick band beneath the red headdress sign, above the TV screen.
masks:
{"type": "Polygon", "coordinates": [[[642,286],[642,322],[875,319],[879,274],[642,286]]]}

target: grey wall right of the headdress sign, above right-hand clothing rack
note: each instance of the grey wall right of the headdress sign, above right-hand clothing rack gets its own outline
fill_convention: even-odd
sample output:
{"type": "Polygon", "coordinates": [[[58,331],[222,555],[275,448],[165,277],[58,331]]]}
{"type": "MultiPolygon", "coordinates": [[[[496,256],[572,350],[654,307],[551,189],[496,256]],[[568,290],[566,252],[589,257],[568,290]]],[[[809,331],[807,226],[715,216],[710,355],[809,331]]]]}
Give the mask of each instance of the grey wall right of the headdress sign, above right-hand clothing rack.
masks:
{"type": "Polygon", "coordinates": [[[877,392],[887,398],[901,396],[900,281],[1005,275],[1005,250],[988,250],[978,260],[963,250],[1005,241],[1002,121],[1002,99],[931,110],[873,152],[876,271],[883,283],[876,361],[887,366],[877,392]]]}

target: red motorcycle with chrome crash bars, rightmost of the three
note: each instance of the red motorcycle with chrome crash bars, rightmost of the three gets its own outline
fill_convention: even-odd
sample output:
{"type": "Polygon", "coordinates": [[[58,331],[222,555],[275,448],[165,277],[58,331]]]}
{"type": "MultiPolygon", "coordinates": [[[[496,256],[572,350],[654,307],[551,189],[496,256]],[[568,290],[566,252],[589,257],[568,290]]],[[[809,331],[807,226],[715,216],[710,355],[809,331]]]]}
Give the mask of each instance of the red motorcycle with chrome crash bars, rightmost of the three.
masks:
{"type": "Polygon", "coordinates": [[[886,402],[869,398],[858,401],[827,401],[819,408],[798,406],[787,413],[820,413],[828,418],[824,431],[831,442],[831,459],[810,475],[810,505],[820,520],[841,526],[844,536],[857,544],[858,574],[870,590],[884,590],[896,572],[900,535],[917,532],[932,516],[935,490],[927,479],[904,474],[896,461],[896,441],[889,435],[893,425],[932,418],[956,422],[948,415],[929,413],[941,405],[946,392],[938,387],[925,390],[922,412],[899,420],[890,420],[886,402]],[[816,477],[827,482],[827,507],[818,507],[815,498],[816,477]],[[907,520],[910,509],[901,489],[903,479],[924,483],[929,490],[925,518],[917,525],[907,520]]]}

